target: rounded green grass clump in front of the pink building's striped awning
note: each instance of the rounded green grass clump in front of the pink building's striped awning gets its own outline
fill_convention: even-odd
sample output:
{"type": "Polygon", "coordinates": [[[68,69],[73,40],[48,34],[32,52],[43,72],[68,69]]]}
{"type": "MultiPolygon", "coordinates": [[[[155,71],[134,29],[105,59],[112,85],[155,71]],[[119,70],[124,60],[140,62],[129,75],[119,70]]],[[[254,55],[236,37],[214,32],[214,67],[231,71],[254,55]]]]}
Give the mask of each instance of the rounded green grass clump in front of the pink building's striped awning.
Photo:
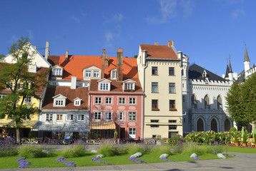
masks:
{"type": "Polygon", "coordinates": [[[114,156],[119,155],[119,149],[115,143],[106,142],[99,146],[98,153],[104,156],[114,156]]]}

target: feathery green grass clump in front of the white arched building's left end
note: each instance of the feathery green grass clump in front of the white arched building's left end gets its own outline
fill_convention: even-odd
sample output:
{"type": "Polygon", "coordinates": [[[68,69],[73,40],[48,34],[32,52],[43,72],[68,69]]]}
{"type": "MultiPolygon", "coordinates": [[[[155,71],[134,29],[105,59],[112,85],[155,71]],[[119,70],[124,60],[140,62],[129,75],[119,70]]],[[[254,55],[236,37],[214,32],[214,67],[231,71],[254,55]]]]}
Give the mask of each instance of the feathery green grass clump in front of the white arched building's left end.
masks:
{"type": "Polygon", "coordinates": [[[195,142],[186,142],[184,144],[182,154],[191,155],[196,153],[197,155],[202,155],[205,153],[205,147],[202,145],[197,145],[195,142]]]}

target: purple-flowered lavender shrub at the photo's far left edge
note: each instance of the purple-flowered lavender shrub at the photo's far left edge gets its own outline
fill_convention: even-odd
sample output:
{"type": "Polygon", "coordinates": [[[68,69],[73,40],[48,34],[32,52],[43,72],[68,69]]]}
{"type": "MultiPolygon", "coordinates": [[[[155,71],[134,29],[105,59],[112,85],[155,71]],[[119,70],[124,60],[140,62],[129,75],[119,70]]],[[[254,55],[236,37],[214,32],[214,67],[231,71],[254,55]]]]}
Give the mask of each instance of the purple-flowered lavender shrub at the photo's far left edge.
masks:
{"type": "Polygon", "coordinates": [[[4,138],[4,140],[0,140],[0,157],[17,154],[17,144],[14,138],[4,138]]]}

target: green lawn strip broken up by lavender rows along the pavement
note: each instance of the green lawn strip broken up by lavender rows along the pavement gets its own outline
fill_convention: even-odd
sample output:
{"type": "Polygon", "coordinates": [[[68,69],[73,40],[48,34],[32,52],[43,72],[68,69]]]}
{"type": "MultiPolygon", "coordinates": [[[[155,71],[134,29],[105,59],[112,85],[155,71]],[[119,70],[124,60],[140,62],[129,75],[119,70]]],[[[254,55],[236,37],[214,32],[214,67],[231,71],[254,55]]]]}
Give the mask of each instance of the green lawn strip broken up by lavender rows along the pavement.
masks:
{"type": "MultiPolygon", "coordinates": [[[[54,157],[44,157],[44,158],[26,158],[31,162],[31,165],[27,168],[33,167],[68,167],[61,162],[57,162],[56,158],[61,157],[60,151],[55,152],[56,155],[54,157]]],[[[112,163],[113,165],[129,165],[129,164],[137,164],[137,162],[131,162],[128,160],[130,155],[118,155],[114,157],[103,157],[100,160],[104,160],[106,162],[112,163]]],[[[92,161],[92,157],[96,157],[96,155],[87,155],[84,157],[75,157],[75,158],[67,158],[65,160],[74,162],[78,167],[79,166],[96,166],[96,165],[104,165],[99,162],[92,161]]],[[[210,160],[210,159],[217,159],[217,155],[211,154],[204,154],[199,156],[201,160],[210,160]]],[[[18,156],[13,157],[0,157],[0,169],[7,169],[7,168],[17,168],[19,163],[16,162],[18,156]]],[[[145,154],[142,155],[139,159],[144,160],[146,163],[152,162],[168,162],[159,159],[159,156],[152,155],[152,154],[145,154]]],[[[175,162],[179,161],[189,161],[192,160],[189,155],[181,155],[181,154],[174,154],[169,155],[169,160],[174,160],[175,162]]]]}

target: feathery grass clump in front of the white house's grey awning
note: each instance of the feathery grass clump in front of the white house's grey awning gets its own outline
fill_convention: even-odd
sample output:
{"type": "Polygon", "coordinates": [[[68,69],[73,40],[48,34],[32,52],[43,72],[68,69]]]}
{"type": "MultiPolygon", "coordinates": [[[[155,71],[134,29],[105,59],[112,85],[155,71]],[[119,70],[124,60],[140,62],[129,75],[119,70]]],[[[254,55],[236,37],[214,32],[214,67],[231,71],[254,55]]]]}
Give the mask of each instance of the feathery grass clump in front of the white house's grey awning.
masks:
{"type": "Polygon", "coordinates": [[[87,152],[88,145],[82,140],[77,140],[73,145],[65,148],[61,155],[66,158],[70,157],[82,157],[84,155],[90,155],[91,152],[87,152]]]}

